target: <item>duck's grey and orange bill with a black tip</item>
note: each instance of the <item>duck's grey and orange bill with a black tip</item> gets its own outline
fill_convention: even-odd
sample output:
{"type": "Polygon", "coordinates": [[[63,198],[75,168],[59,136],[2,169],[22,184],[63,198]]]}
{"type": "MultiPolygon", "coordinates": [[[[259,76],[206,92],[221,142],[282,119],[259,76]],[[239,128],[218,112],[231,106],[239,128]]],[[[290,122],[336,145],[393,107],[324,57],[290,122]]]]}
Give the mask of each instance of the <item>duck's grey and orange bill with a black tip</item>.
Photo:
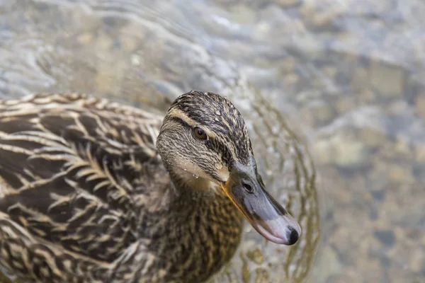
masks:
{"type": "Polygon", "coordinates": [[[222,183],[222,190],[249,224],[268,241],[288,246],[297,242],[300,225],[266,191],[254,165],[236,164],[227,182],[222,183]]]}

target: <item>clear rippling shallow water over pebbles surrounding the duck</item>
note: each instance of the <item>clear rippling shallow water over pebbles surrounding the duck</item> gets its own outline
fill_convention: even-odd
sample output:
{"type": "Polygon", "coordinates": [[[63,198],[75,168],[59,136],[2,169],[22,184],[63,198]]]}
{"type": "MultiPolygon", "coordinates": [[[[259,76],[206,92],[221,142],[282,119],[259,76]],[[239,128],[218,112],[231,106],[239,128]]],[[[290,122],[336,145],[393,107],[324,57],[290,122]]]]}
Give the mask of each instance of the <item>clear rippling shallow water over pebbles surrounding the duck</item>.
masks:
{"type": "Polygon", "coordinates": [[[303,234],[288,248],[246,226],[213,282],[425,282],[424,13],[419,0],[0,0],[0,96],[163,112],[191,89],[222,93],[303,234]]]}

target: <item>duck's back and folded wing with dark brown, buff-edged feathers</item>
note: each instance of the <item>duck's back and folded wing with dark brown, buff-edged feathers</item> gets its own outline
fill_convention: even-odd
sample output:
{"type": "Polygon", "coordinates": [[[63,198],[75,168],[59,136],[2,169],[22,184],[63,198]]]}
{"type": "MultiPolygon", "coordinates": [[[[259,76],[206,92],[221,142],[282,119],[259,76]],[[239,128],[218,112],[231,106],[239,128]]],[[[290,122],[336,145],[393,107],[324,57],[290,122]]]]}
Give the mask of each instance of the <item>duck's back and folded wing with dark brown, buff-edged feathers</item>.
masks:
{"type": "Polygon", "coordinates": [[[0,220],[112,262],[137,239],[133,193],[161,122],[77,93],[0,101],[0,220]]]}

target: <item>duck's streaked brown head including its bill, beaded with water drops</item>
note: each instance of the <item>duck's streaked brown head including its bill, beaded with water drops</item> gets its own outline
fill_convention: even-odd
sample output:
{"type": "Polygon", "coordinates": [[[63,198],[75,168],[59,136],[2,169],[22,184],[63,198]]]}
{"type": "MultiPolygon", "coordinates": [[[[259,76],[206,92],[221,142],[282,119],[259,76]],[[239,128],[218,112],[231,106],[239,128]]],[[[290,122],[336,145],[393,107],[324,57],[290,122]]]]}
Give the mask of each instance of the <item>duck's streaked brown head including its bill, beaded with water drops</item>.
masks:
{"type": "Polygon", "coordinates": [[[164,117],[157,149],[175,184],[208,190],[210,182],[217,183],[264,238],[297,242],[300,225],[267,192],[244,119],[227,98],[200,91],[177,98],[164,117]]]}

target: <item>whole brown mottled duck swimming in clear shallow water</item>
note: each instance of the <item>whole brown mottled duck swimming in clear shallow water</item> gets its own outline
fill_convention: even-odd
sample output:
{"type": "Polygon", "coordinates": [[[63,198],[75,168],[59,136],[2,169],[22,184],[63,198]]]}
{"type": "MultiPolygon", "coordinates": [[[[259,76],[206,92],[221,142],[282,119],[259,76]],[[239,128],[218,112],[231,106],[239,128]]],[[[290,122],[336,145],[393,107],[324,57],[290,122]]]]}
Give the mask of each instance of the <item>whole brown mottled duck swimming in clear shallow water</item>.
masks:
{"type": "Polygon", "coordinates": [[[220,94],[189,91],[165,116],[82,93],[0,100],[0,266],[20,282],[205,282],[245,220],[300,238],[220,94]]]}

